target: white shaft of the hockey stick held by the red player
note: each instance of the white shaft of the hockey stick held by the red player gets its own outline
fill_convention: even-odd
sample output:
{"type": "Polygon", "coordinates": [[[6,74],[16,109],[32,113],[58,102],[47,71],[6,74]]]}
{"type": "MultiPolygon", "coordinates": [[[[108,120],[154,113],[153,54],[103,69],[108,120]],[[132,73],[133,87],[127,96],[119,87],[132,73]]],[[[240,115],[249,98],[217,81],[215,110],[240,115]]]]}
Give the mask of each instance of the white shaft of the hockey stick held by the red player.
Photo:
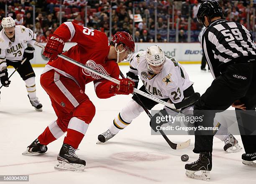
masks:
{"type": "MultiPolygon", "coordinates": [[[[35,45],[38,46],[38,47],[41,47],[42,49],[44,49],[44,46],[41,43],[35,42],[35,45]]],[[[83,69],[86,69],[87,71],[90,71],[90,72],[92,72],[92,73],[94,73],[96,75],[99,75],[100,77],[108,79],[109,81],[114,82],[115,84],[120,84],[120,81],[118,79],[114,79],[113,77],[110,77],[110,76],[108,76],[106,74],[102,74],[101,72],[98,72],[97,70],[92,69],[91,67],[86,66],[86,65],[84,65],[82,63],[79,63],[78,61],[75,61],[74,59],[71,59],[71,58],[69,58],[69,57],[67,57],[67,56],[65,56],[63,54],[58,54],[58,57],[66,60],[66,61],[69,61],[70,63],[75,64],[75,65],[77,65],[77,66],[79,66],[79,67],[81,67],[83,69]]],[[[154,100],[155,102],[163,104],[163,105],[171,108],[172,110],[176,109],[176,107],[173,104],[164,102],[163,100],[160,100],[160,99],[158,99],[156,97],[153,97],[152,95],[150,95],[148,93],[142,92],[142,91],[140,91],[140,90],[138,90],[136,88],[133,88],[133,91],[138,93],[138,94],[140,94],[140,95],[142,95],[142,96],[144,96],[144,97],[147,97],[147,98],[149,98],[151,100],[154,100]]]]}

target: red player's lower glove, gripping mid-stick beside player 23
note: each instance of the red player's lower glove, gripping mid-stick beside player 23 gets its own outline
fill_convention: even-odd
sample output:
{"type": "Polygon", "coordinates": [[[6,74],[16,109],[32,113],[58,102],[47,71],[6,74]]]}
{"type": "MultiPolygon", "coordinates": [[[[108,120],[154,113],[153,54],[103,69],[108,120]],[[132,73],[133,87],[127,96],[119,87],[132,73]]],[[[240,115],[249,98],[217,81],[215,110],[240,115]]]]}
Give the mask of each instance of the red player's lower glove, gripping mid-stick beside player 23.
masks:
{"type": "Polygon", "coordinates": [[[129,95],[133,93],[133,87],[135,86],[134,82],[130,79],[118,79],[120,84],[113,83],[110,87],[110,93],[117,95],[129,95]]]}

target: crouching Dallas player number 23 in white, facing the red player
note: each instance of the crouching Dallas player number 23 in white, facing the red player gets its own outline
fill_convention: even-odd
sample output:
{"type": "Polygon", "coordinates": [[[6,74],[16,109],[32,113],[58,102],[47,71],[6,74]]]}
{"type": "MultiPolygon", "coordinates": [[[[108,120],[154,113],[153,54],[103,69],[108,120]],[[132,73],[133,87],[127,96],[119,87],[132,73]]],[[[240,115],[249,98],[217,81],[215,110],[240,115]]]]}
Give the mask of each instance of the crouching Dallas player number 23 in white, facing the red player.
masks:
{"type": "MultiPolygon", "coordinates": [[[[192,86],[193,82],[189,80],[184,67],[178,64],[174,58],[165,55],[157,45],[150,46],[146,51],[139,51],[131,56],[127,78],[133,80],[136,83],[136,87],[138,86],[138,75],[144,84],[140,88],[141,91],[150,93],[166,102],[174,103],[174,105],[195,93],[192,86]]],[[[141,95],[138,95],[138,97],[148,110],[151,110],[157,104],[157,102],[141,95]]],[[[104,143],[113,138],[143,112],[143,107],[136,101],[136,97],[133,96],[133,100],[128,102],[120,111],[110,128],[98,135],[98,143],[104,143]]],[[[162,114],[175,115],[175,112],[166,106],[160,112],[163,112],[162,114]]],[[[190,116],[191,112],[193,112],[193,106],[184,108],[180,112],[190,116]]],[[[225,141],[225,151],[232,153],[241,150],[238,141],[228,132],[226,127],[221,126],[218,120],[215,120],[214,125],[219,127],[215,137],[225,141]]],[[[151,126],[151,128],[157,131],[155,127],[151,126]]]]}

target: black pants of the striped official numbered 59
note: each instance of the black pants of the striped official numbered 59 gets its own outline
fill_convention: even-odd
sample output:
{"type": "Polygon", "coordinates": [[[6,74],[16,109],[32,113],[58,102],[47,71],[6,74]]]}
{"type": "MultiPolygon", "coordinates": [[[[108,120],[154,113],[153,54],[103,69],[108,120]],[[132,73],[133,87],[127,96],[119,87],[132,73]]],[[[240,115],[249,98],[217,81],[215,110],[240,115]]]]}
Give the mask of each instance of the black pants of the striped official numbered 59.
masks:
{"type": "MultiPolygon", "coordinates": [[[[211,86],[195,103],[194,115],[203,117],[203,121],[195,123],[195,127],[213,127],[215,113],[228,109],[236,100],[241,100],[246,110],[253,110],[250,112],[254,113],[254,116],[248,115],[245,112],[249,111],[236,109],[239,131],[243,134],[241,135],[243,146],[246,153],[253,153],[256,151],[256,63],[230,64],[220,76],[213,80],[211,86]],[[248,135],[252,132],[254,135],[248,135]]],[[[211,132],[204,131],[207,133],[204,134],[202,131],[195,131],[193,150],[195,153],[212,152],[213,133],[211,132]]]]}

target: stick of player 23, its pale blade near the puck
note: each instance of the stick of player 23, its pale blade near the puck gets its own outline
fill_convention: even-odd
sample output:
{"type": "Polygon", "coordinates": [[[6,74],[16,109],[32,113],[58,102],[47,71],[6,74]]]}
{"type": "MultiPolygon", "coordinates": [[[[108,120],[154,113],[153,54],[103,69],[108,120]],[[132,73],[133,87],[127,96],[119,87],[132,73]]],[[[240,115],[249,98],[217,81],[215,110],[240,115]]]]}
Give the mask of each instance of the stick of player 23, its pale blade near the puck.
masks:
{"type": "MultiPolygon", "coordinates": [[[[123,73],[120,70],[120,76],[125,79],[125,76],[123,75],[123,73]]],[[[148,111],[148,109],[145,107],[145,105],[141,102],[141,100],[139,99],[138,95],[136,93],[134,93],[134,97],[137,100],[138,105],[140,105],[144,111],[147,113],[148,117],[151,119],[152,115],[151,113],[148,111]]],[[[175,112],[179,112],[178,110],[176,110],[175,112]]],[[[190,144],[190,139],[183,142],[183,143],[173,143],[172,141],[169,140],[169,138],[165,135],[163,130],[159,130],[159,132],[161,133],[161,135],[164,137],[165,141],[169,144],[169,146],[171,146],[172,149],[183,149],[183,148],[187,148],[190,144]]]]}

